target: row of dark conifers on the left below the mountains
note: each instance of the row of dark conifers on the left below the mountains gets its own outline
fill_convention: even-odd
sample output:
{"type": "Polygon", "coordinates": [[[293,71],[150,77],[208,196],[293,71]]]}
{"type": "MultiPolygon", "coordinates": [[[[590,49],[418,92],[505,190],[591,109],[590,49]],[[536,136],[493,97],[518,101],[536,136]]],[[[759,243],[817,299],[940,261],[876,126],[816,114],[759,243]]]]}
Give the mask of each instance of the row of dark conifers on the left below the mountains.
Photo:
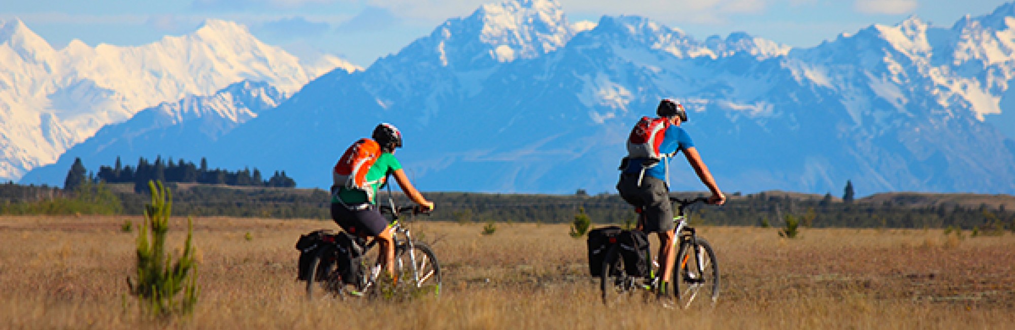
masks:
{"type": "Polygon", "coordinates": [[[75,158],[70,171],[67,173],[67,180],[64,182],[64,189],[73,190],[85,182],[106,182],[134,183],[135,191],[145,192],[148,190],[148,181],[161,181],[164,183],[199,183],[212,185],[247,186],[247,187],[278,187],[294,188],[296,182],[285,175],[285,171],[276,171],[271,178],[265,180],[261,171],[249,168],[230,172],[221,169],[209,169],[208,160],[201,158],[201,164],[172,158],[163,160],[161,156],[155,161],[140,157],[136,167],[123,166],[120,157],[117,157],[113,167],[101,166],[94,176],[89,175],[85,170],[81,158],[75,158]]]}

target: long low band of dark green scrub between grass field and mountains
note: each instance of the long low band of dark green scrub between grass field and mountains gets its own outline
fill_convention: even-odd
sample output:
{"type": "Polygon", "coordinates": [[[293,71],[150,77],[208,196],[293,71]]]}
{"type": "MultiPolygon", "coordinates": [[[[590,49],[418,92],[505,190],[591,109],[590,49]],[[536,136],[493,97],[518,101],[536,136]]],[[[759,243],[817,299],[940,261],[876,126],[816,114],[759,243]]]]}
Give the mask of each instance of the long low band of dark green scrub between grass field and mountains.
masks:
{"type": "MultiPolygon", "coordinates": [[[[132,184],[86,184],[68,192],[49,187],[0,185],[0,214],[73,214],[67,205],[101,202],[119,214],[142,214],[148,196],[135,193],[132,184]],[[115,191],[115,193],[113,193],[115,191]],[[90,197],[89,197],[90,196],[90,197]],[[97,197],[96,197],[97,196],[97,197]],[[53,202],[53,200],[76,202],[53,202]]],[[[193,216],[247,216],[330,219],[329,194],[321,189],[253,189],[226,186],[167,184],[177,214],[193,216]]],[[[675,194],[697,197],[696,194],[675,194]]],[[[409,203],[395,193],[400,204],[409,203]]],[[[703,194],[701,196],[704,196],[703,194]]],[[[593,223],[625,224],[635,221],[630,205],[615,194],[521,195],[481,193],[426,193],[437,207],[419,220],[462,223],[542,222],[569,223],[584,210],[593,223]]],[[[387,203],[387,194],[382,202],[387,203]]],[[[733,194],[727,205],[697,205],[689,219],[694,224],[782,226],[788,217],[804,227],[898,227],[1015,230],[1015,212],[1004,206],[937,203],[913,206],[900,203],[844,202],[824,198],[799,198],[779,194],[733,194]]]]}

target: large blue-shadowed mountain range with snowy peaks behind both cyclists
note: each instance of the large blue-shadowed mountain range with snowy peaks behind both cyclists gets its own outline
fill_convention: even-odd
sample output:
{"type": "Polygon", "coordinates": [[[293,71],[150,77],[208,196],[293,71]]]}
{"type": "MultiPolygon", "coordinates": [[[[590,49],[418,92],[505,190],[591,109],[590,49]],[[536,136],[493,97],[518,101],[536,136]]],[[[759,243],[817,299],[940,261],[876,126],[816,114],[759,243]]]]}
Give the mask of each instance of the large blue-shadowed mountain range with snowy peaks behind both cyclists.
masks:
{"type": "MultiPolygon", "coordinates": [[[[574,28],[554,1],[509,1],[365,70],[323,75],[201,152],[328,187],[344,148],[390,122],[423,190],[612,192],[630,125],[675,97],[728,191],[834,193],[851,180],[861,194],[1010,194],[1015,126],[992,125],[1015,115],[1009,21],[1013,4],[950,28],[912,17],[791,49],[742,32],[699,41],[638,16],[574,28]]],[[[682,158],[670,177],[674,190],[702,189],[682,158]]]]}

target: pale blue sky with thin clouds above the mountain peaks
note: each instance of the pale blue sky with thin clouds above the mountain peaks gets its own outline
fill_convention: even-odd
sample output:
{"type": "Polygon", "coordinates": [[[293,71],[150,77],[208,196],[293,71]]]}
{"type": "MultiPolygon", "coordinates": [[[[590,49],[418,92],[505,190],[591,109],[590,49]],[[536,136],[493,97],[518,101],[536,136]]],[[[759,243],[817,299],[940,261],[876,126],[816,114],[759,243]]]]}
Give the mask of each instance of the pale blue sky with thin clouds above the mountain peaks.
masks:
{"type": "MultiPolygon", "coordinates": [[[[296,55],[341,56],[368,66],[428,35],[444,20],[500,0],[0,0],[0,19],[18,18],[63,48],[78,39],[136,46],[193,31],[208,18],[247,25],[258,39],[296,55]]],[[[747,31],[812,47],[865,26],[917,15],[951,26],[992,12],[1001,0],[557,0],[571,21],[636,14],[697,39],[747,31]]]]}

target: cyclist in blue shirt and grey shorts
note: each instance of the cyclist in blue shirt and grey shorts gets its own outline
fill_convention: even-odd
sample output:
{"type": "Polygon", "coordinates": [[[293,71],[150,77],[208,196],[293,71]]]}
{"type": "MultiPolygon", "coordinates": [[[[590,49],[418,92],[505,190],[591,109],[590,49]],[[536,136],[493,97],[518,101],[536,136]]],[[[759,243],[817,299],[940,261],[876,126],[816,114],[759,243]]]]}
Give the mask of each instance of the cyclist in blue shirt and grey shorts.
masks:
{"type": "MultiPolygon", "coordinates": [[[[701,183],[712,191],[708,203],[722,205],[726,203],[726,195],[719,189],[716,180],[708,172],[704,161],[694,148],[694,142],[687,135],[680,124],[687,121],[687,113],[684,107],[673,100],[663,100],[659,103],[656,114],[660,118],[670,121],[670,127],[666,129],[663,142],[659,146],[659,152],[665,154],[676,154],[683,151],[687,162],[697,174],[701,183]]],[[[659,256],[663,261],[663,271],[661,273],[663,283],[660,285],[660,294],[666,293],[669,289],[669,280],[672,278],[673,264],[676,257],[673,245],[676,243],[676,233],[673,225],[673,205],[670,202],[669,188],[669,157],[664,157],[662,161],[650,168],[644,168],[642,163],[651,161],[649,158],[628,158],[621,168],[620,180],[617,183],[617,191],[627,203],[641,209],[641,216],[638,226],[646,233],[657,233],[659,235],[659,256]],[[642,173],[644,171],[644,173],[642,173]]]]}

